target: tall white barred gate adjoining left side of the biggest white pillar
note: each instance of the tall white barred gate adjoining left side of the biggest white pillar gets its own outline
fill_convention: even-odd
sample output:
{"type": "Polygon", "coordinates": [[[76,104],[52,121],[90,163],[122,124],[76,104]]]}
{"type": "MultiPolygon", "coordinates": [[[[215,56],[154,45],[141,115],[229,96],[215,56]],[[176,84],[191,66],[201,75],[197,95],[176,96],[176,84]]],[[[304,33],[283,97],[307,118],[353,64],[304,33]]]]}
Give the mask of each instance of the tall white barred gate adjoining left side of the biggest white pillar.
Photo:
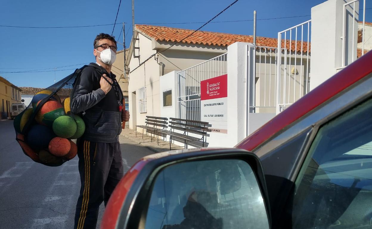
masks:
{"type": "Polygon", "coordinates": [[[309,92],[311,20],[278,33],[276,114],[309,92]]]}

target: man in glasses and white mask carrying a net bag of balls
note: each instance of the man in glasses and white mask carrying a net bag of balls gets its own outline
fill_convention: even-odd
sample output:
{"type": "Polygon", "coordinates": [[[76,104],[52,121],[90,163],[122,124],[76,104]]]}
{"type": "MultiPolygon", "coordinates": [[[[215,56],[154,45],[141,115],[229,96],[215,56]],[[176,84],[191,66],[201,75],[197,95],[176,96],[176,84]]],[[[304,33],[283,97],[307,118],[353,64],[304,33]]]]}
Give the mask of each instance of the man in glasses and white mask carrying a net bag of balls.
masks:
{"type": "Polygon", "coordinates": [[[90,63],[75,83],[71,111],[83,113],[86,125],[78,139],[80,196],[75,213],[75,229],[96,228],[98,210],[105,206],[123,176],[118,136],[121,122],[129,120],[129,112],[122,110],[123,95],[111,67],[116,58],[116,41],[105,33],[94,39],[90,63]]]}

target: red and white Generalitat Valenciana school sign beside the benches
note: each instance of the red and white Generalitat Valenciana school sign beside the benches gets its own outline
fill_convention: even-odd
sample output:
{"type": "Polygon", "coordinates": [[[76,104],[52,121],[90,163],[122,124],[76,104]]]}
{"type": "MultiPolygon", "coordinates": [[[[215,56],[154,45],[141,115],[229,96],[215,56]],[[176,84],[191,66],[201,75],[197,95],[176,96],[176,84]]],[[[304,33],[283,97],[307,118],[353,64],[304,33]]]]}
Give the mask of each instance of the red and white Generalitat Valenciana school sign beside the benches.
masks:
{"type": "Polygon", "coordinates": [[[212,132],[227,134],[227,75],[200,82],[201,120],[209,122],[212,132]]]}

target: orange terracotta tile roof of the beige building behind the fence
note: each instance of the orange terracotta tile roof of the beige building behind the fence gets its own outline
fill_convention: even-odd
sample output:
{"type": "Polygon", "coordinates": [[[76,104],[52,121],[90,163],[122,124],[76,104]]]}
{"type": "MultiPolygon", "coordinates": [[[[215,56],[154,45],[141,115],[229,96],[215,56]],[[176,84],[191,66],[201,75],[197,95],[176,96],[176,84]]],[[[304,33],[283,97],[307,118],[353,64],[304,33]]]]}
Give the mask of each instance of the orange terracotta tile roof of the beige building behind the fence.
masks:
{"type": "MultiPolygon", "coordinates": [[[[183,37],[190,35],[194,30],[189,29],[177,29],[165,26],[150,26],[150,25],[143,25],[137,24],[135,28],[145,33],[147,36],[153,37],[157,41],[166,41],[166,42],[181,42],[183,37]]],[[[253,36],[251,35],[238,35],[238,34],[230,34],[230,33],[216,33],[216,32],[205,32],[205,31],[198,31],[195,32],[192,36],[187,37],[187,39],[183,40],[182,43],[187,44],[195,44],[195,45],[210,45],[210,46],[228,46],[235,42],[253,42],[253,36]]],[[[269,46],[269,47],[277,47],[278,46],[278,39],[271,38],[271,37],[257,37],[256,43],[259,46],[269,46]]],[[[284,48],[284,44],[286,48],[291,48],[292,51],[296,50],[299,52],[301,51],[301,41],[297,41],[297,47],[295,46],[296,42],[292,40],[291,47],[289,47],[290,42],[287,40],[282,40],[282,48],[284,48]]],[[[302,48],[305,52],[307,52],[307,42],[303,42],[302,48]]],[[[309,43],[309,51],[310,51],[310,43],[309,43]]]]}

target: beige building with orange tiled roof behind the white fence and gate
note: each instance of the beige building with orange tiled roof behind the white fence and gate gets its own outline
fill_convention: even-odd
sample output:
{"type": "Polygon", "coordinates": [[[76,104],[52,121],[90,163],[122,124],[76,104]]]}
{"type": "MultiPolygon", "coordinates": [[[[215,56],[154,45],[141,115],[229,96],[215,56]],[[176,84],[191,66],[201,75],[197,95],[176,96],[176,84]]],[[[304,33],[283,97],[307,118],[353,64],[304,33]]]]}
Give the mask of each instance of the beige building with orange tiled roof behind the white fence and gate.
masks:
{"type": "MultiPolygon", "coordinates": [[[[135,128],[135,125],[143,125],[146,115],[160,116],[163,102],[166,103],[167,98],[172,97],[169,93],[174,93],[173,90],[162,88],[163,91],[160,91],[161,76],[172,71],[182,71],[227,53],[227,46],[235,42],[253,42],[253,36],[249,35],[193,32],[193,30],[162,26],[135,26],[134,39],[129,47],[128,58],[126,58],[129,78],[129,111],[131,112],[130,128],[135,128]],[[184,39],[191,33],[193,33],[191,36],[184,39]],[[163,95],[165,92],[167,94],[163,95]]],[[[257,37],[256,43],[261,47],[278,46],[277,39],[270,37],[257,37]]],[[[296,55],[294,52],[295,42],[292,41],[292,43],[291,54],[299,58],[299,53],[296,55]]],[[[307,44],[304,43],[305,45],[307,44]]],[[[289,42],[286,46],[289,48],[289,42]]],[[[298,47],[301,45],[299,44],[298,47]]],[[[267,84],[269,84],[269,78],[275,79],[275,56],[270,55],[271,52],[273,51],[270,48],[260,48],[256,51],[256,68],[259,69],[259,65],[262,64],[258,59],[262,59],[263,62],[269,63],[265,68],[272,69],[272,71],[267,70],[267,74],[270,72],[270,75],[267,76],[267,84]]],[[[306,68],[305,65],[298,67],[306,68]]],[[[300,69],[298,72],[301,72],[300,69]]],[[[259,80],[262,73],[257,72],[257,74],[256,87],[259,90],[263,85],[259,80]]],[[[303,78],[304,76],[302,76],[303,78]]],[[[275,89],[273,85],[266,87],[269,87],[269,90],[275,89]]],[[[177,100],[177,95],[174,96],[177,100]]],[[[260,99],[260,96],[258,95],[256,99],[260,99]]]]}

